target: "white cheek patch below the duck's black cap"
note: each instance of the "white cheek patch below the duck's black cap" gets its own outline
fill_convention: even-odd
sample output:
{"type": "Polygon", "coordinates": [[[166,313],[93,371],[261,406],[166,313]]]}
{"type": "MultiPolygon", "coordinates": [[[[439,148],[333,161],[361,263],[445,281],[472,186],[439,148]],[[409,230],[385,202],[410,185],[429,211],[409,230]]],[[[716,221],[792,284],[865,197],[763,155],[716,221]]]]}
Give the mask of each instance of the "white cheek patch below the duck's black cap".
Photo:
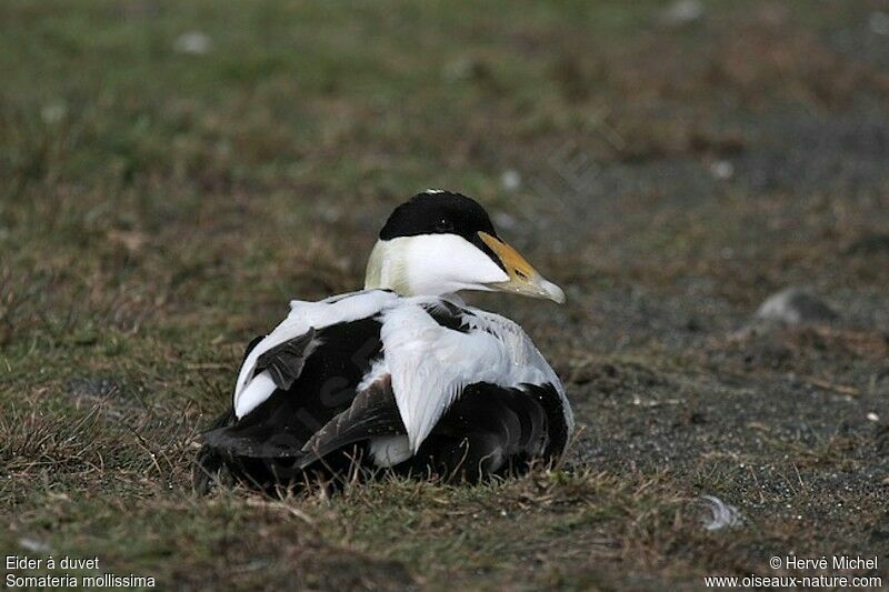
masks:
{"type": "Polygon", "coordinates": [[[414,293],[437,294],[505,282],[507,273],[478,247],[456,234],[401,237],[403,261],[414,293]]]}

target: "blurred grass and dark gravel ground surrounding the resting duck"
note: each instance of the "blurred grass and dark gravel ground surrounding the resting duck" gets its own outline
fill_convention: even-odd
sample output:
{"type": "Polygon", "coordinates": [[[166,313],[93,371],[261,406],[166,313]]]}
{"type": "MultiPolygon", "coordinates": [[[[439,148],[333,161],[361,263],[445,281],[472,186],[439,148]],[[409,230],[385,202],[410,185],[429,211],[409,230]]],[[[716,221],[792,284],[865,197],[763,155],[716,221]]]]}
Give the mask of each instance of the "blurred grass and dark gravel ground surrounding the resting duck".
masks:
{"type": "Polygon", "coordinates": [[[886,1],[4,0],[0,73],[4,549],[322,589],[885,556],[886,1]],[[469,300],[566,382],[571,470],[191,498],[243,345],[426,188],[566,289],[469,300]]]}

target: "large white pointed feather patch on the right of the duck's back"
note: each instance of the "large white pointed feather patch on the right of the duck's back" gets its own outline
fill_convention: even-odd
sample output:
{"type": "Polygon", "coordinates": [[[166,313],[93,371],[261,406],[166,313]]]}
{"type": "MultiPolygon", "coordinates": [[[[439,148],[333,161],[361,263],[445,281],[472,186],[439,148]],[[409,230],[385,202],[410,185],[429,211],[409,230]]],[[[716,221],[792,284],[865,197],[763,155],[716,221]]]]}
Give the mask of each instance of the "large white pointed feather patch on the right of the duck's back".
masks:
{"type": "Polygon", "coordinates": [[[468,384],[515,388],[552,382],[561,392],[559,379],[516,323],[471,309],[476,313],[469,319],[471,330],[453,331],[439,325],[419,305],[422,302],[429,299],[403,299],[383,313],[383,361],[368,377],[391,374],[414,453],[468,384]]]}

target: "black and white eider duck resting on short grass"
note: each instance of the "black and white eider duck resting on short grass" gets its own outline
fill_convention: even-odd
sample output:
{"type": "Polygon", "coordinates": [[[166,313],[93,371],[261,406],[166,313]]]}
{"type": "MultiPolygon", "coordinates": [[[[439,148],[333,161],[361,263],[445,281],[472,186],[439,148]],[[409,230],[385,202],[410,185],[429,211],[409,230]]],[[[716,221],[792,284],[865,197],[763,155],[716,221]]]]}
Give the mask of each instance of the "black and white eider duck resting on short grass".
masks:
{"type": "Polygon", "coordinates": [[[230,408],[202,434],[196,488],[223,469],[269,490],[356,468],[478,482],[558,462],[575,427],[561,381],[519,324],[467,291],[566,300],[476,200],[427,190],[398,205],[362,290],[293,300],[247,347],[230,408]]]}

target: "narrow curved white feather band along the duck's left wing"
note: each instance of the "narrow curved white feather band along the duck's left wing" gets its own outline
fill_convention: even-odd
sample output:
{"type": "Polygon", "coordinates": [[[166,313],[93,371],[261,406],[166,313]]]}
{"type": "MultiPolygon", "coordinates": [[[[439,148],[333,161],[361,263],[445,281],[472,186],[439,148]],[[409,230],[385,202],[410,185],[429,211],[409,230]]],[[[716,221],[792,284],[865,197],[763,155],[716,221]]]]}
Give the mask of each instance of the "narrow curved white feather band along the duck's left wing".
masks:
{"type": "Polygon", "coordinates": [[[262,353],[304,334],[310,328],[322,329],[372,317],[397,300],[398,295],[383,290],[340,294],[320,302],[292,300],[287,319],[266,335],[243,361],[234,383],[234,415],[241,419],[274,392],[274,382],[268,371],[254,373],[257,360],[262,353]]]}

